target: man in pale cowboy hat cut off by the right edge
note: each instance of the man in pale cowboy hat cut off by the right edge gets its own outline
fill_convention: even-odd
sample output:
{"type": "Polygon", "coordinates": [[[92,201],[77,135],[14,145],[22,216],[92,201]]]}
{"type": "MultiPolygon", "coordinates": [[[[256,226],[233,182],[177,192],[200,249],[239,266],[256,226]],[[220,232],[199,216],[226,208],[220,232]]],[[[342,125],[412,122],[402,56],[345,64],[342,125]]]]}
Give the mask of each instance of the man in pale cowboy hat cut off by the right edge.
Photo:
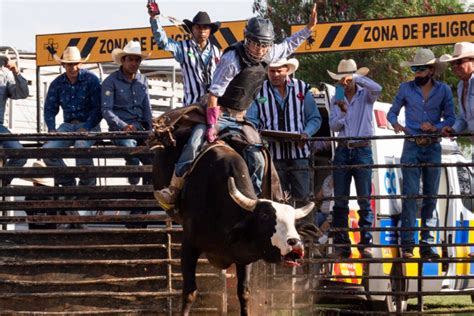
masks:
{"type": "Polygon", "coordinates": [[[440,61],[451,64],[451,69],[458,83],[458,115],[453,127],[445,126],[442,130],[444,136],[453,133],[474,132],[474,44],[460,42],[454,45],[453,56],[445,54],[440,61]]]}

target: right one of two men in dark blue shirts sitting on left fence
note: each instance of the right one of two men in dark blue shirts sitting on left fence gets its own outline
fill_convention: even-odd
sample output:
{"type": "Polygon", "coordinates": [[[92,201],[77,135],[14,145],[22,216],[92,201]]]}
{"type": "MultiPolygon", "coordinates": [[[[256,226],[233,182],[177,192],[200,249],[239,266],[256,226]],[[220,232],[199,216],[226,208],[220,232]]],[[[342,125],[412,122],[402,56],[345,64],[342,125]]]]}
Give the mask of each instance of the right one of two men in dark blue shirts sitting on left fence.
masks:
{"type": "MultiPolygon", "coordinates": [[[[149,131],[152,128],[152,114],[148,80],[139,72],[143,59],[140,43],[130,41],[123,49],[112,51],[113,61],[120,69],[111,73],[102,83],[102,116],[109,125],[109,131],[149,131]]],[[[135,139],[117,139],[117,146],[136,147],[135,139]]],[[[140,159],[126,158],[126,165],[139,165],[140,159]]],[[[143,161],[148,163],[148,161],[143,161]]],[[[138,184],[139,177],[129,177],[130,184],[138,184]]]]}

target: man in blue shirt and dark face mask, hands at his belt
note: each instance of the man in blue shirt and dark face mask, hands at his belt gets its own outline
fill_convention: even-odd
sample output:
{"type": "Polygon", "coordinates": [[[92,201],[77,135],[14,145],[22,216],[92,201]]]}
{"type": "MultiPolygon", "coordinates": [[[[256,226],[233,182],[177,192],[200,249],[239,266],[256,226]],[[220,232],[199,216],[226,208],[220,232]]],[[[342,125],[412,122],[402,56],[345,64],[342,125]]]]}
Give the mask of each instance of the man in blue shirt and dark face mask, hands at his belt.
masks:
{"type": "MultiPolygon", "coordinates": [[[[445,126],[454,124],[453,95],[449,86],[435,80],[443,70],[443,65],[429,49],[417,50],[413,61],[400,63],[401,67],[411,67],[414,80],[400,85],[387,119],[395,133],[407,135],[433,134],[422,138],[405,138],[401,157],[402,164],[441,163],[441,144],[438,133],[445,126]],[[405,126],[398,121],[402,107],[405,107],[405,126]]],[[[420,194],[420,178],[423,181],[423,195],[438,194],[439,167],[402,168],[402,194],[420,194]]],[[[415,228],[417,214],[416,199],[406,198],[402,201],[400,216],[402,228],[415,228]]],[[[421,231],[420,255],[423,258],[439,258],[438,253],[429,246],[434,242],[433,229],[438,225],[436,198],[424,198],[421,207],[421,227],[432,230],[421,231]]],[[[418,232],[416,232],[418,234],[418,232]]],[[[400,242],[403,258],[412,258],[415,245],[415,232],[400,231],[400,242]]]]}

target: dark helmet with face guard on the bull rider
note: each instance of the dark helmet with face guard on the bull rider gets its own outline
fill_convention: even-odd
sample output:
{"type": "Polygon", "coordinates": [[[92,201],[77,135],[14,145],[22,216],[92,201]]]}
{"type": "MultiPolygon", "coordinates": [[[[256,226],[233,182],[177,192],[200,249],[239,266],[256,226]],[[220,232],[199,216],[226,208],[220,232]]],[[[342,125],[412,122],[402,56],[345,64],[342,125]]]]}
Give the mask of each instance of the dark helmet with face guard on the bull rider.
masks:
{"type": "MultiPolygon", "coordinates": [[[[253,44],[254,47],[271,47],[275,40],[275,31],[270,20],[261,17],[253,17],[247,21],[245,27],[245,52],[253,62],[261,62],[265,54],[249,48],[253,44]]],[[[266,53],[266,52],[265,52],[266,53]]]]}

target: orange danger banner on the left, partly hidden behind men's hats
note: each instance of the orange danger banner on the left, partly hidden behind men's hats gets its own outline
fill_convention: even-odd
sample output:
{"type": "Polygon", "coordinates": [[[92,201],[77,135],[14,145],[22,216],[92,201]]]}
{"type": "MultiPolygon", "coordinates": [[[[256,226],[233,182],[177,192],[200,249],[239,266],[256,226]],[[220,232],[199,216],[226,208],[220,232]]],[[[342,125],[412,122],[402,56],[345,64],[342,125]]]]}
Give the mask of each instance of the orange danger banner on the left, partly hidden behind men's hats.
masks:
{"type": "MultiPolygon", "coordinates": [[[[211,41],[219,48],[225,49],[234,42],[244,38],[246,21],[222,23],[221,28],[211,36],[211,41]]],[[[188,39],[189,34],[182,33],[176,26],[164,27],[168,37],[179,41],[188,39]]],[[[129,41],[139,41],[142,51],[151,52],[150,59],[172,58],[171,53],[158,50],[150,27],[121,29],[110,31],[44,34],[36,36],[36,65],[57,65],[53,54],[61,56],[68,46],[77,46],[84,58],[90,54],[88,63],[111,62],[112,50],[123,48],[129,41]]]]}

